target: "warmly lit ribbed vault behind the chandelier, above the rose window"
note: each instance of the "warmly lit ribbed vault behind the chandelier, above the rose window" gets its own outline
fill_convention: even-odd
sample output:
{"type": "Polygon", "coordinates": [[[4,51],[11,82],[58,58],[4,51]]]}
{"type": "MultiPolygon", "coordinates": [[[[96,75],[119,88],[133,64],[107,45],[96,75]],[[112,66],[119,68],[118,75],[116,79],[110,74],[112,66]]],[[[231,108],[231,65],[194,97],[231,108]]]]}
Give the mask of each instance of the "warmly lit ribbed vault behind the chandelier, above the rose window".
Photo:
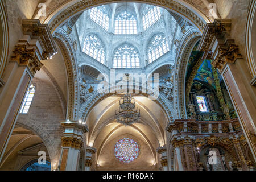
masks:
{"type": "MultiPolygon", "coordinates": [[[[87,119],[89,146],[102,144],[121,126],[115,121],[115,110],[119,108],[119,99],[120,97],[117,96],[105,98],[90,112],[87,119]]],[[[131,126],[138,131],[137,137],[139,134],[145,135],[154,146],[164,145],[163,136],[167,119],[161,107],[144,96],[135,97],[135,105],[141,110],[141,121],[131,126]]]]}

